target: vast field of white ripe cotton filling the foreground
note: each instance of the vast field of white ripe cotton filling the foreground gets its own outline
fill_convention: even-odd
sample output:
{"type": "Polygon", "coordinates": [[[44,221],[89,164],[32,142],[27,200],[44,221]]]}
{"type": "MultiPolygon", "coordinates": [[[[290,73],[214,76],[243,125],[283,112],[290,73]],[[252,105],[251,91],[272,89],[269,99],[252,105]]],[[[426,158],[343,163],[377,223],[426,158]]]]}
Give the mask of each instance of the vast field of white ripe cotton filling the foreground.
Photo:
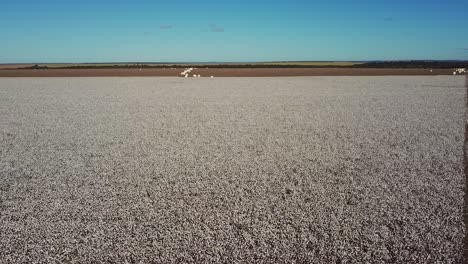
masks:
{"type": "Polygon", "coordinates": [[[462,76],[0,79],[0,262],[462,263],[462,76]]]}

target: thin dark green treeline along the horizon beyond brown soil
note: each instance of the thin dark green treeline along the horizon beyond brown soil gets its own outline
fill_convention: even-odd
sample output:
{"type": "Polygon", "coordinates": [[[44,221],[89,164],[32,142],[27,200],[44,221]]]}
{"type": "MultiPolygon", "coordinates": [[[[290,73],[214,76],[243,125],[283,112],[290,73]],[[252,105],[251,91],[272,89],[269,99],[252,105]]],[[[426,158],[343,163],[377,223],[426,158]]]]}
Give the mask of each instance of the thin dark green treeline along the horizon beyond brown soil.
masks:
{"type": "Polygon", "coordinates": [[[326,65],[287,63],[246,63],[246,64],[77,64],[66,66],[29,66],[18,69],[133,69],[133,68],[420,68],[420,69],[451,69],[468,68],[468,61],[369,61],[351,65],[326,65]]]}

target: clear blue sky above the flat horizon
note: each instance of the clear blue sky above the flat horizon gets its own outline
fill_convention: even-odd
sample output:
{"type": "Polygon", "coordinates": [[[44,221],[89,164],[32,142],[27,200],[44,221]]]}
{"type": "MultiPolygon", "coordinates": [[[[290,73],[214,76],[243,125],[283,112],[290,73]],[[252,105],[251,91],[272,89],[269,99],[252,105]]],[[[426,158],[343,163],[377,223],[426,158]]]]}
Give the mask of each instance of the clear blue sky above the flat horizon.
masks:
{"type": "Polygon", "coordinates": [[[0,63],[468,59],[468,1],[0,2],[0,63]]]}

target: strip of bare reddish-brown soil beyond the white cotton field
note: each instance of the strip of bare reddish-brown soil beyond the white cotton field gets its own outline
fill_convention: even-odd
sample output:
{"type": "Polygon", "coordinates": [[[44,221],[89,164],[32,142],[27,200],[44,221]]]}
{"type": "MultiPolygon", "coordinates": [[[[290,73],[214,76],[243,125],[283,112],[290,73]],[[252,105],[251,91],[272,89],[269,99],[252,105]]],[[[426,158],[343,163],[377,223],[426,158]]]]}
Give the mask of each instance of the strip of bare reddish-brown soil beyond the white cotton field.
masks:
{"type": "MultiPolygon", "coordinates": [[[[4,66],[6,67],[6,66],[4,66]]],[[[9,66],[11,67],[11,66],[9,66]]],[[[25,67],[25,66],[23,66],[25,67]]],[[[106,76],[180,76],[183,69],[0,69],[0,77],[106,77],[106,76]]],[[[276,76],[387,76],[452,75],[450,69],[359,69],[359,68],[198,68],[191,72],[202,77],[276,77],[276,76]]]]}

